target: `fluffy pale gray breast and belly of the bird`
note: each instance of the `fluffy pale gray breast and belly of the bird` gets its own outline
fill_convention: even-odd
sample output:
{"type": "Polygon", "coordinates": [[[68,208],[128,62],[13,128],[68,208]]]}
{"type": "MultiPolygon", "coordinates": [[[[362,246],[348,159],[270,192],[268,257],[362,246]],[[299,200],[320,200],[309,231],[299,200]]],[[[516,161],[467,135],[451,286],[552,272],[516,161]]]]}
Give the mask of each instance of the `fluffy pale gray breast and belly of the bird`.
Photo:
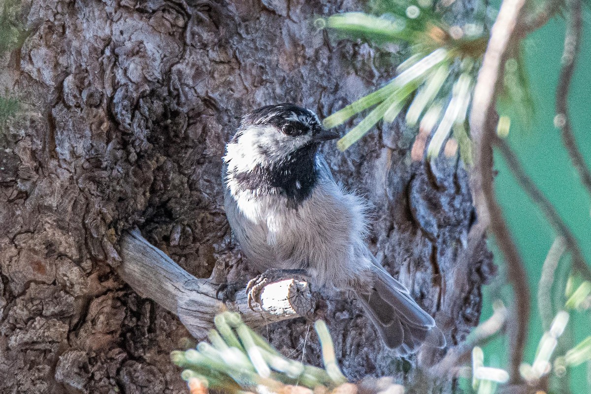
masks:
{"type": "MultiPolygon", "coordinates": [[[[226,213],[248,261],[309,271],[318,285],[344,284],[367,265],[365,206],[334,182],[323,182],[297,208],[285,197],[226,193],[226,213]]],[[[248,192],[250,193],[250,192],[248,192]]]]}

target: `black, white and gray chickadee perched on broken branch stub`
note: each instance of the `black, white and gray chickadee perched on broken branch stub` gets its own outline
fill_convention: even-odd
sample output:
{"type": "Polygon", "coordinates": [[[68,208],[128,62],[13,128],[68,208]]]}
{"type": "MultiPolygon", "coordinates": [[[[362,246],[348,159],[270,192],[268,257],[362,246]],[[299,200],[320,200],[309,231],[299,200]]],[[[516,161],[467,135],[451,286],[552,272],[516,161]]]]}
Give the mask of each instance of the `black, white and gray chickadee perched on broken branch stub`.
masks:
{"type": "Polygon", "coordinates": [[[400,356],[415,353],[433,332],[441,347],[433,317],[369,250],[368,203],[335,181],[319,152],[338,137],[292,103],[242,116],[223,156],[232,233],[259,272],[295,269],[314,286],[352,293],[400,356]]]}

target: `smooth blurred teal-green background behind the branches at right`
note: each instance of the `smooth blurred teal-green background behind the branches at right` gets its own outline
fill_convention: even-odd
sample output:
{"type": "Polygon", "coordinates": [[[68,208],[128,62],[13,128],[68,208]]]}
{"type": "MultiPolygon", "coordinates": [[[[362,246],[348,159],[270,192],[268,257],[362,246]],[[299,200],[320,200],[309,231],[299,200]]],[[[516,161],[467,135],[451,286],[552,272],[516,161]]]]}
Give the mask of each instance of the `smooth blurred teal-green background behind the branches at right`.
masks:
{"type": "MultiPolygon", "coordinates": [[[[586,9],[584,20],[589,21],[586,9]]],[[[586,30],[583,37],[576,74],[571,83],[569,109],[577,143],[587,163],[591,165],[591,30],[584,23],[586,30]]],[[[587,262],[591,261],[591,217],[590,200],[579,176],[571,165],[569,156],[561,144],[560,133],[553,125],[555,114],[555,95],[560,70],[560,58],[564,45],[564,19],[551,20],[540,30],[525,40],[525,61],[534,96],[535,112],[531,119],[531,128],[524,129],[517,122],[511,125],[508,141],[517,152],[519,159],[530,177],[544,194],[556,206],[574,235],[579,240],[587,262]]],[[[500,112],[510,113],[501,109],[500,112]]],[[[514,118],[515,119],[515,118],[514,118]]],[[[530,335],[525,354],[525,362],[531,363],[535,350],[543,334],[540,314],[537,307],[537,289],[541,267],[552,245],[556,233],[550,227],[543,213],[531,202],[519,188],[502,158],[495,154],[496,193],[504,210],[506,220],[526,265],[532,294],[530,335]]],[[[499,265],[500,281],[504,281],[504,263],[491,242],[495,260],[499,265]]],[[[570,257],[563,256],[557,270],[557,282],[564,284],[566,268],[570,257]],[[563,268],[563,269],[561,269],[563,268]]],[[[485,306],[481,321],[492,314],[492,302],[501,298],[505,305],[511,305],[511,289],[499,284],[492,284],[485,289],[485,306]]],[[[573,331],[573,344],[579,343],[591,334],[589,313],[571,313],[569,322],[573,331]]],[[[505,340],[495,340],[484,348],[485,364],[505,367],[507,365],[507,344],[505,340]]],[[[570,388],[573,393],[591,392],[591,369],[584,363],[571,369],[570,388]]],[[[566,382],[564,382],[566,383],[566,382]]],[[[566,384],[563,386],[566,388],[566,384]]],[[[566,390],[561,390],[566,392],[566,390]]]]}

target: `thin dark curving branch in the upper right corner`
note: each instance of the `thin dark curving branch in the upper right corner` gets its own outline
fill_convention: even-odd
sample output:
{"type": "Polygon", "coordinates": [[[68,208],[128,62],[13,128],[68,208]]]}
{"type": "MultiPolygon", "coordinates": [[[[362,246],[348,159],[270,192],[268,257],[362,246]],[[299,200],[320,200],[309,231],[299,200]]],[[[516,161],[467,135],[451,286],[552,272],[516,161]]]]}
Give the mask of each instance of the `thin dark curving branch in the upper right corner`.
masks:
{"type": "Polygon", "coordinates": [[[591,196],[591,172],[584,161],[583,154],[577,148],[568,108],[570,82],[576,67],[577,56],[579,56],[583,30],[581,0],[567,0],[566,3],[566,35],[561,60],[562,68],[560,69],[556,88],[556,118],[554,118],[554,124],[560,129],[563,144],[569,152],[573,166],[579,172],[581,182],[587,189],[589,196],[591,196]]]}

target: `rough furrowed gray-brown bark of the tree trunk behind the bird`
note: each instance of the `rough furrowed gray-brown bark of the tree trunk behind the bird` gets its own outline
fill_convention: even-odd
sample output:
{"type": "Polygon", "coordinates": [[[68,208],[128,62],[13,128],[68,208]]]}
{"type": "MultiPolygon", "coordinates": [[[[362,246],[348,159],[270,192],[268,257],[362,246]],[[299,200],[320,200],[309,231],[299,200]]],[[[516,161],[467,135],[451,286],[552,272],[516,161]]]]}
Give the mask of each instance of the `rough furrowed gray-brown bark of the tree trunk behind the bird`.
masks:
{"type": "MultiPolygon", "coordinates": [[[[0,71],[22,103],[0,133],[0,392],[186,390],[168,353],[189,334],[115,274],[119,236],[138,225],[198,278],[216,264],[229,282],[255,275],[222,204],[220,157],[239,116],[285,101],[327,116],[392,76],[397,55],[314,30],[315,15],[362,7],[336,3],[23,1],[30,34],[0,71]]],[[[467,175],[453,159],[411,162],[412,140],[394,124],[344,154],[323,149],[371,200],[378,259],[454,346],[478,322],[491,256],[479,240],[454,270],[473,221],[467,175]]],[[[355,301],[325,302],[350,379],[400,373],[355,301]]],[[[303,318],[262,332],[320,364],[303,318]]]]}

